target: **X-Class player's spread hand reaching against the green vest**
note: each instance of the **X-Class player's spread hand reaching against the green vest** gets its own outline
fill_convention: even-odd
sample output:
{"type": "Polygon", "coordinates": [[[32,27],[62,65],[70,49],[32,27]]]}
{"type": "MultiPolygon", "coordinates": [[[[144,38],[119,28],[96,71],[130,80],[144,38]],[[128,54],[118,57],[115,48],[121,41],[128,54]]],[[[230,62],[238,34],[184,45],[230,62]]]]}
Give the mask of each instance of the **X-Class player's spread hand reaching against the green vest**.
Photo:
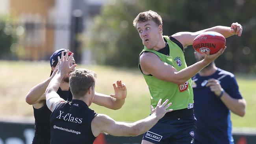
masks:
{"type": "Polygon", "coordinates": [[[156,108],[153,108],[152,105],[150,106],[151,114],[156,114],[156,117],[160,119],[165,115],[165,113],[173,111],[173,109],[167,109],[172,105],[172,103],[167,104],[168,101],[169,100],[167,99],[165,100],[165,102],[163,102],[163,104],[161,104],[162,99],[160,98],[160,100],[158,101],[158,104],[156,105],[156,108]]]}

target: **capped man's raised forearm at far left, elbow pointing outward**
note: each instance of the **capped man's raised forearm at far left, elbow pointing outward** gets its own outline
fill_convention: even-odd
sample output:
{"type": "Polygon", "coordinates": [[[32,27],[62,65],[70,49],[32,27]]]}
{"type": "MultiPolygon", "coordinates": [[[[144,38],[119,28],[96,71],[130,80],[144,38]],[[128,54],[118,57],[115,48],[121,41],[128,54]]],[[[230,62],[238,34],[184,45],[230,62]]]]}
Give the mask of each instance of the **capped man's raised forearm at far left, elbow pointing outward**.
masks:
{"type": "Polygon", "coordinates": [[[52,76],[50,76],[48,79],[45,81],[37,84],[35,87],[30,89],[28,94],[26,95],[26,102],[30,105],[33,105],[35,103],[38,103],[40,100],[45,100],[45,90],[50,83],[51,79],[54,77],[56,74],[57,69],[54,70],[52,73],[52,76]]]}

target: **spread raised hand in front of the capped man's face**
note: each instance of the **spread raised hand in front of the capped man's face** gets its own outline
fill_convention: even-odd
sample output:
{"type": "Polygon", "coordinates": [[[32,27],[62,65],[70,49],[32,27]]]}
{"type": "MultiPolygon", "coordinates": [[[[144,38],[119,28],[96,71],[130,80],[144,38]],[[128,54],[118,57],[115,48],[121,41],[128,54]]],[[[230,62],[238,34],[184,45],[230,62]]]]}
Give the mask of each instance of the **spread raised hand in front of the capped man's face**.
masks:
{"type": "Polygon", "coordinates": [[[61,58],[58,57],[58,72],[60,72],[62,75],[67,74],[77,66],[76,64],[70,66],[70,61],[72,60],[74,53],[72,53],[70,56],[68,54],[69,50],[67,50],[65,56],[64,52],[61,52],[61,58]]]}

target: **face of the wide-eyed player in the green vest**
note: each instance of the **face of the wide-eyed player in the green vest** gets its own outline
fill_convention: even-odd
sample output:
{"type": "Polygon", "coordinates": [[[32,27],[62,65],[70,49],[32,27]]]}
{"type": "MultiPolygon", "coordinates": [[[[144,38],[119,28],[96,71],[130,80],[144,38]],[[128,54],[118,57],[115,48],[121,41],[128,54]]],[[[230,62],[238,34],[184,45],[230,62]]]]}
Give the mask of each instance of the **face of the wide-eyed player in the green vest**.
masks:
{"type": "Polygon", "coordinates": [[[153,20],[138,22],[137,31],[139,32],[143,45],[148,49],[156,47],[162,37],[162,26],[158,26],[153,20]]]}

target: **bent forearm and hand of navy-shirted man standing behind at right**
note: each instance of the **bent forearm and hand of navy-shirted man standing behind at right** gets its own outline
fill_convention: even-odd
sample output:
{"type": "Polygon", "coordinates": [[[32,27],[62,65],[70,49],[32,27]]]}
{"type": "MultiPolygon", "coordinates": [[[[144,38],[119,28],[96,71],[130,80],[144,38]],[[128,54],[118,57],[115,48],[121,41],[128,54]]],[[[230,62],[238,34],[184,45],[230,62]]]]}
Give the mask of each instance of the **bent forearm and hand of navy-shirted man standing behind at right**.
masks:
{"type": "MultiPolygon", "coordinates": [[[[233,84],[232,81],[230,83],[233,84]]],[[[219,96],[221,94],[222,89],[223,89],[217,79],[208,79],[208,83],[207,83],[206,87],[210,87],[211,91],[214,92],[214,94],[216,96],[219,96]]],[[[236,82],[235,82],[234,86],[232,85],[231,89],[236,89],[234,91],[238,92],[238,86],[236,87],[236,82]]],[[[239,116],[244,116],[245,115],[245,107],[246,107],[245,99],[243,99],[243,98],[240,98],[240,99],[232,98],[232,96],[230,96],[227,92],[224,92],[223,96],[221,96],[221,101],[234,114],[237,114],[239,116]]]]}

